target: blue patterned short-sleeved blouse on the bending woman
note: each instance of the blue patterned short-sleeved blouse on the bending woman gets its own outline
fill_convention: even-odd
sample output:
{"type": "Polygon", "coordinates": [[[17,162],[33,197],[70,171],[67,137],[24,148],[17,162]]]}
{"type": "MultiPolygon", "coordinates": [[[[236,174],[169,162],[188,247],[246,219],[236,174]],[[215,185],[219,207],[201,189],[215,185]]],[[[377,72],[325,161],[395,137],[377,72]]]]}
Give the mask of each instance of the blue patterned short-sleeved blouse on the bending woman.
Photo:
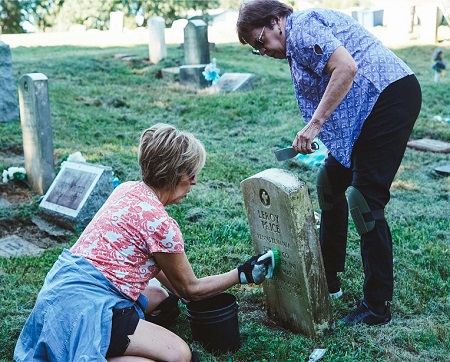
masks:
{"type": "Polygon", "coordinates": [[[306,122],[322,99],[330,80],[324,68],[339,46],[352,55],[358,72],[350,91],[323,124],[319,138],[334,158],[348,168],[355,141],[380,93],[413,72],[350,16],[330,9],[294,12],[286,21],[286,55],[306,122]],[[316,45],[323,54],[315,52],[316,45]]]}

